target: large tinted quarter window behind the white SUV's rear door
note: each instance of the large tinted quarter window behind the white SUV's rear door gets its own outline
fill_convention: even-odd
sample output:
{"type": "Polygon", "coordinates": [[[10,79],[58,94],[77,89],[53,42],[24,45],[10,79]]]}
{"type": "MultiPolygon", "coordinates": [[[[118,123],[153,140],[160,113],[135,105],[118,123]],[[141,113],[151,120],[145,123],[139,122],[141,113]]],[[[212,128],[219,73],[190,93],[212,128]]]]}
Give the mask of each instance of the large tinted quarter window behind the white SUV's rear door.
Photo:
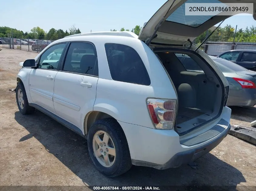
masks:
{"type": "Polygon", "coordinates": [[[150,85],[148,72],[135,49],[122,44],[106,43],[105,51],[113,80],[150,85]]]}

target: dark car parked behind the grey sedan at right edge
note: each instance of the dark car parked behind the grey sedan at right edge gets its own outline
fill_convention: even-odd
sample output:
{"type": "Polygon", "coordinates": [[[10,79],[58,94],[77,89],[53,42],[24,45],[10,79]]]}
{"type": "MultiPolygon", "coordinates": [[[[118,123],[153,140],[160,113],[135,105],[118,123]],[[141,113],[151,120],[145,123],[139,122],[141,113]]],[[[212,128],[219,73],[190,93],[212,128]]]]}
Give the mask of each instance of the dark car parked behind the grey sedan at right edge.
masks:
{"type": "Polygon", "coordinates": [[[248,70],[256,71],[256,50],[229,50],[217,57],[234,62],[248,70]]]}

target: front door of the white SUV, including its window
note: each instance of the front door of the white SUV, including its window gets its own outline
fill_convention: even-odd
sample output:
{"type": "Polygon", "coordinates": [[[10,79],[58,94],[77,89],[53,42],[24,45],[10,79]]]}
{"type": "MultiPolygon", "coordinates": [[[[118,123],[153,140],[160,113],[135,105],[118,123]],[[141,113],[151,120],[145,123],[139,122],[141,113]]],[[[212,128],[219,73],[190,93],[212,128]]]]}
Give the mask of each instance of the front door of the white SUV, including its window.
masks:
{"type": "Polygon", "coordinates": [[[46,110],[55,113],[53,107],[54,79],[58,73],[60,60],[67,43],[49,47],[40,57],[36,69],[29,75],[29,91],[33,102],[46,110]],[[54,59],[52,54],[58,55],[54,59]]]}

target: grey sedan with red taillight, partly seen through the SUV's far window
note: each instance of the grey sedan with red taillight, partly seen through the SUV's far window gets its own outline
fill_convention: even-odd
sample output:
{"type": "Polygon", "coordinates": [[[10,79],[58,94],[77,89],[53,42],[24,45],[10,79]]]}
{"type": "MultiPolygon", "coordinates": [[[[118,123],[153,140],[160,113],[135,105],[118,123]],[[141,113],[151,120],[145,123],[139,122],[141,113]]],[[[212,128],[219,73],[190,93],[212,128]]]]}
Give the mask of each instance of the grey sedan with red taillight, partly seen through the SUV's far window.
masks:
{"type": "MultiPolygon", "coordinates": [[[[189,56],[177,55],[189,71],[202,72],[202,69],[189,56]]],[[[254,106],[256,104],[256,72],[248,70],[228,60],[210,56],[229,82],[227,106],[254,106]]]]}

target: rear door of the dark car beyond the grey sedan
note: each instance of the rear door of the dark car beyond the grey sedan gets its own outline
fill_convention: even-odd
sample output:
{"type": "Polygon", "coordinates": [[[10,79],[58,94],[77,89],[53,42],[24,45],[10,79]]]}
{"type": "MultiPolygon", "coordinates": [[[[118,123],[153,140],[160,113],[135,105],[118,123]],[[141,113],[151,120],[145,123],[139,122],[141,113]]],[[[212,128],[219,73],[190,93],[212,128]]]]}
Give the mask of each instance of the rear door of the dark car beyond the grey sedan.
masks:
{"type": "Polygon", "coordinates": [[[247,68],[248,70],[256,71],[256,52],[242,52],[237,64],[247,68]]]}

